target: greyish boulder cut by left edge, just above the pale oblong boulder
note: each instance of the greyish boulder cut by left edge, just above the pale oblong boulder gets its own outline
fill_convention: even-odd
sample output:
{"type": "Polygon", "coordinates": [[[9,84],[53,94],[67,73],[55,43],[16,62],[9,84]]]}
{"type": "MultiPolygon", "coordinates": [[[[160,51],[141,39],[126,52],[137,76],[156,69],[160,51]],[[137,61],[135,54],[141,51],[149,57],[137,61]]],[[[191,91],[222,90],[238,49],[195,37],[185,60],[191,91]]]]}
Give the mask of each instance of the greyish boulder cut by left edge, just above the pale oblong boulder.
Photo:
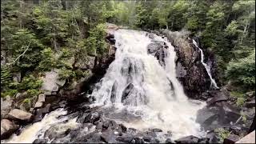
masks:
{"type": "Polygon", "coordinates": [[[6,118],[7,114],[10,112],[14,104],[12,98],[1,98],[1,119],[6,118]]]}

